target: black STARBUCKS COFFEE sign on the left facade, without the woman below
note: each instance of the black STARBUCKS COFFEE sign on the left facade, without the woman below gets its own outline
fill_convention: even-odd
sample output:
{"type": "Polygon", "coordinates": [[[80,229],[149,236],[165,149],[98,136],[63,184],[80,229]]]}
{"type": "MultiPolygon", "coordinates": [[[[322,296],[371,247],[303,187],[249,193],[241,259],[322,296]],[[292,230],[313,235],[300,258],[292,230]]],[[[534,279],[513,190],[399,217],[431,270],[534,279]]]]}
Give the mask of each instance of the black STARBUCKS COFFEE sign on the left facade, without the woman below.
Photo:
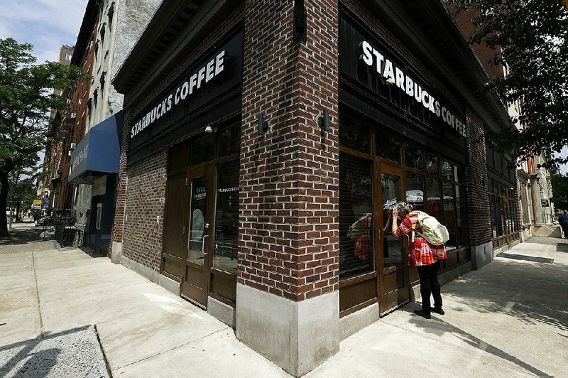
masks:
{"type": "MultiPolygon", "coordinates": [[[[164,136],[180,126],[180,121],[190,121],[184,126],[183,134],[190,135],[206,123],[213,123],[227,114],[239,109],[221,106],[220,112],[212,114],[207,108],[240,92],[243,66],[243,31],[242,28],[226,38],[224,42],[192,68],[185,72],[174,85],[162,92],[151,104],[133,117],[130,129],[131,158],[140,158],[163,144],[164,136]],[[203,112],[207,112],[203,117],[203,112]],[[191,122],[197,118],[198,121],[191,122]],[[160,140],[160,143],[156,142],[160,140]],[[147,148],[150,145],[156,144],[147,148]],[[141,148],[146,151],[140,151],[141,148]]],[[[240,101],[226,102],[240,104],[240,101]]],[[[179,133],[177,133],[179,134],[179,133]]]]}

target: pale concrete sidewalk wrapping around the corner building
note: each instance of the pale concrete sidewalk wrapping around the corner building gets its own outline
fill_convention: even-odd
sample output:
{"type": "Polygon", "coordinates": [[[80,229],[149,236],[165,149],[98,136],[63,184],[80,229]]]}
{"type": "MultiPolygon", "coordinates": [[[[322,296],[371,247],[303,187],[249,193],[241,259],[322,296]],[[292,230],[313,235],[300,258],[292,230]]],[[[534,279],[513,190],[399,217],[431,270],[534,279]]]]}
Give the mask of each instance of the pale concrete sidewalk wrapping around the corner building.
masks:
{"type": "MultiPolygon", "coordinates": [[[[224,323],[124,266],[26,243],[40,227],[17,232],[27,239],[0,242],[0,375],[16,374],[3,351],[29,360],[31,340],[95,325],[114,377],[289,377],[224,323]]],[[[444,286],[446,315],[418,318],[411,303],[306,377],[568,377],[568,243],[533,238],[508,254],[444,286]]]]}

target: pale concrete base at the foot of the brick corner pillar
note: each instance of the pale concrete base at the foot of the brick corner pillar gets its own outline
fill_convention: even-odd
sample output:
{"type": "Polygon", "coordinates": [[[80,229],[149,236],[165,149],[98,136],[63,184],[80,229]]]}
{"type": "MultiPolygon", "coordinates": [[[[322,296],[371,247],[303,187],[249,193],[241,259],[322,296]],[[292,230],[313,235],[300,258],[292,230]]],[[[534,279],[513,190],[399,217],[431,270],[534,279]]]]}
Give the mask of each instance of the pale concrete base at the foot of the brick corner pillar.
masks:
{"type": "Polygon", "coordinates": [[[339,352],[338,291],[295,302],[237,284],[236,303],[236,337],[295,377],[339,352]]]}

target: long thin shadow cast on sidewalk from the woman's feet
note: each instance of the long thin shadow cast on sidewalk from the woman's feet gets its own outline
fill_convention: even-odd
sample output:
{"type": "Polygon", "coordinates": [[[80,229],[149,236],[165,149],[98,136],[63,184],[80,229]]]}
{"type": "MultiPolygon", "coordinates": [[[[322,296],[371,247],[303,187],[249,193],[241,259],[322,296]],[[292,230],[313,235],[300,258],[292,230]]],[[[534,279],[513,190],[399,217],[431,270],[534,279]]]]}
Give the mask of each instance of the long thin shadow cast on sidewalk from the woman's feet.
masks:
{"type": "Polygon", "coordinates": [[[454,325],[446,323],[444,322],[444,320],[441,320],[439,318],[432,318],[430,320],[425,320],[421,317],[418,317],[417,315],[411,315],[409,323],[416,325],[418,328],[421,328],[426,333],[430,333],[432,335],[442,336],[444,335],[444,333],[451,333],[452,335],[456,336],[463,342],[466,342],[466,344],[469,344],[472,347],[476,347],[481,351],[499,357],[503,360],[513,362],[513,364],[527,370],[532,374],[535,374],[537,377],[552,377],[551,375],[542,372],[536,367],[528,365],[526,362],[519,360],[517,357],[509,355],[507,352],[499,349],[498,347],[494,347],[493,345],[484,342],[484,340],[481,340],[480,338],[476,338],[474,335],[471,335],[471,333],[466,333],[464,330],[461,330],[455,327],[454,325]]]}

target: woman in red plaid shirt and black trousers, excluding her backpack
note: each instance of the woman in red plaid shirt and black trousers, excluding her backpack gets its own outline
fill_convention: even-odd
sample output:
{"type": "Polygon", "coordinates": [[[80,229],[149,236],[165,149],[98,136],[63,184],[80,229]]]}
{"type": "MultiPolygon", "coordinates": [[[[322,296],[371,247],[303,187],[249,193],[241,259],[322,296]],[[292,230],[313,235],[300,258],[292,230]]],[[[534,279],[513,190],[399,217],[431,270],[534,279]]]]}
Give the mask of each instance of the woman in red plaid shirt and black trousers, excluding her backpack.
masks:
{"type": "Polygon", "coordinates": [[[422,228],[418,224],[420,211],[413,211],[413,205],[398,202],[393,208],[393,235],[401,237],[409,235],[408,265],[416,266],[420,276],[420,294],[422,295],[422,310],[415,310],[416,315],[430,319],[430,311],[444,315],[442,310],[442,294],[439,289],[438,269],[440,260],[446,259],[446,247],[433,245],[422,237],[422,228]],[[404,217],[398,226],[398,215],[404,217]],[[414,230],[414,233],[413,233],[414,230]],[[430,308],[430,294],[434,297],[434,307],[430,308]]]}

